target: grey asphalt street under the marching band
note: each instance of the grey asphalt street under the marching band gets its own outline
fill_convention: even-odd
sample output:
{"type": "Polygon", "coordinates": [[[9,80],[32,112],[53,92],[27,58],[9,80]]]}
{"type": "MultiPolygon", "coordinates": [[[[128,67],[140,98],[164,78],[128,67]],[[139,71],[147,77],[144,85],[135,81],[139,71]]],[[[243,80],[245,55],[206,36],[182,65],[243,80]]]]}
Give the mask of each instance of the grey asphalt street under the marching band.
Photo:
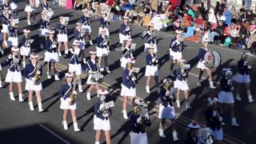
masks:
{"type": "MultiPolygon", "coordinates": [[[[50,1],[51,2],[51,1],[50,1]]],[[[26,14],[24,12],[25,2],[18,2],[19,9],[19,28],[26,27],[26,14]]],[[[44,57],[46,50],[41,50],[38,44],[38,20],[40,18],[41,9],[37,10],[36,21],[30,26],[31,36],[34,38],[32,50],[37,52],[41,57],[44,57]]],[[[54,10],[54,16],[50,20],[50,26],[57,26],[59,16],[69,16],[69,45],[74,40],[74,26],[81,17],[82,13],[74,10],[65,10],[63,8],[56,8],[54,10]]],[[[92,26],[92,38],[96,38],[98,35],[98,22],[99,17],[93,17],[91,21],[92,26]]],[[[32,20],[33,22],[33,20],[32,20]]],[[[166,125],[166,136],[167,138],[162,139],[158,136],[158,104],[160,99],[154,86],[154,81],[151,82],[151,93],[146,94],[145,84],[146,78],[144,77],[146,68],[146,53],[144,50],[144,42],[141,38],[141,34],[146,30],[146,27],[142,26],[131,26],[132,27],[132,38],[133,42],[137,44],[135,50],[136,67],[140,67],[140,74],[138,74],[137,84],[137,96],[143,98],[150,107],[150,120],[152,126],[147,129],[147,134],[150,144],[166,144],[166,143],[182,143],[186,137],[187,124],[194,120],[200,124],[205,125],[206,121],[204,118],[204,111],[206,110],[206,98],[210,96],[217,97],[217,90],[210,90],[208,82],[205,80],[202,82],[202,87],[197,87],[196,83],[198,80],[198,69],[196,68],[198,62],[198,49],[202,46],[201,43],[196,42],[185,42],[186,48],[182,53],[183,58],[192,67],[188,78],[188,84],[190,86],[190,102],[193,107],[191,110],[186,110],[183,94],[181,96],[182,107],[177,109],[178,116],[178,137],[181,139],[178,142],[172,140],[172,130],[170,124],[166,125]]],[[[122,68],[120,68],[119,58],[120,46],[118,47],[118,33],[120,29],[120,22],[110,22],[110,55],[108,58],[110,64],[111,74],[105,74],[104,82],[101,87],[110,90],[110,100],[114,100],[113,114],[110,116],[111,123],[111,142],[112,143],[130,143],[130,131],[126,120],[122,118],[122,98],[120,94],[120,84],[122,82],[122,68]]],[[[21,37],[21,35],[20,35],[21,37]]],[[[158,33],[158,59],[160,62],[159,80],[169,77],[170,75],[170,61],[168,48],[170,45],[170,39],[174,38],[172,32],[159,32],[158,33]]],[[[96,39],[94,39],[94,43],[96,39]]],[[[237,62],[241,58],[242,51],[230,50],[219,46],[210,45],[211,50],[218,51],[222,55],[222,64],[218,70],[214,70],[214,80],[218,86],[218,82],[221,78],[221,70],[223,67],[231,67],[234,74],[237,70],[237,62]]],[[[86,45],[86,56],[89,58],[89,51],[95,50],[94,46],[86,45]]],[[[6,59],[6,52],[0,62],[6,59]]],[[[256,57],[249,56],[250,65],[253,66],[251,71],[251,90],[252,94],[255,94],[255,74],[256,71],[256,57]]],[[[62,128],[62,110],[59,109],[60,100],[58,96],[58,90],[64,82],[64,74],[66,73],[69,59],[61,58],[61,62],[58,65],[58,70],[61,81],[54,81],[54,79],[46,78],[46,66],[43,68],[42,76],[42,106],[46,110],[42,114],[38,113],[38,109],[34,111],[29,110],[28,102],[11,102],[8,95],[8,85],[0,89],[0,143],[94,143],[94,130],[93,130],[93,104],[97,101],[94,97],[90,101],[86,100],[86,90],[88,86],[86,82],[86,73],[83,72],[83,89],[84,92],[78,94],[77,102],[77,117],[78,126],[82,129],[82,132],[75,133],[71,118],[69,118],[69,130],[63,130],[62,128]]],[[[29,62],[27,60],[27,62],[29,62]]],[[[6,75],[7,67],[2,70],[2,80],[6,75]]],[[[53,74],[52,74],[53,75],[53,74]]],[[[204,74],[206,77],[206,74],[204,74]]],[[[23,79],[23,93],[24,98],[27,98],[28,93],[24,90],[25,79],[23,79]]],[[[95,96],[95,91],[94,91],[95,96]]],[[[14,95],[18,98],[18,92],[14,85],[14,95]]],[[[254,144],[256,142],[256,125],[254,121],[256,119],[255,102],[248,103],[246,96],[243,96],[242,102],[235,102],[236,117],[238,123],[241,124],[238,128],[230,126],[230,113],[228,108],[224,110],[224,121],[226,126],[224,127],[225,140],[224,143],[248,143],[254,144]]],[[[34,105],[36,105],[36,99],[34,98],[34,105]]],[[[131,106],[128,106],[129,110],[132,110],[131,106]]],[[[70,116],[70,115],[69,115],[70,116]]],[[[104,142],[102,134],[101,142],[104,142]]]]}

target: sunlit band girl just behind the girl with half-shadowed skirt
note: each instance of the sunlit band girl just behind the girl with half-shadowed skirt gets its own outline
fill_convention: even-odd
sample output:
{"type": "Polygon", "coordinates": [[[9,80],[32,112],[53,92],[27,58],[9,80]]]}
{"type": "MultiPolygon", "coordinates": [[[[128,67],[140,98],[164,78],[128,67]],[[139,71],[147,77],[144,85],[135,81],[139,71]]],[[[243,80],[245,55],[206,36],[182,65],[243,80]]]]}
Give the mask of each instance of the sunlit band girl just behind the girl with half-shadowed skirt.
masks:
{"type": "Polygon", "coordinates": [[[184,59],[181,59],[179,62],[178,62],[178,68],[176,70],[174,70],[174,75],[176,77],[176,81],[175,81],[175,84],[178,88],[177,90],[177,100],[176,100],[176,103],[177,103],[177,107],[179,108],[180,107],[180,102],[179,102],[179,94],[180,94],[180,91],[184,91],[184,95],[185,95],[185,99],[186,99],[186,109],[190,109],[191,106],[190,106],[190,102],[189,102],[189,86],[186,82],[186,78],[188,78],[188,69],[189,68],[186,68],[185,66],[185,60],[184,59]]]}

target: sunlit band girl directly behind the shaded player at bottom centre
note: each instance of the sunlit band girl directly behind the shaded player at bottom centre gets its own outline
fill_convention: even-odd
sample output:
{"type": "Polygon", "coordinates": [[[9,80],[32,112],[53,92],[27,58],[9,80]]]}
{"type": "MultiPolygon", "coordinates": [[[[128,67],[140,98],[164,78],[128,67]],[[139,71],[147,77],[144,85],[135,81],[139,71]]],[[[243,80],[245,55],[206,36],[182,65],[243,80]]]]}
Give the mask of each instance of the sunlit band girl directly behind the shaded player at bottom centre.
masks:
{"type": "Polygon", "coordinates": [[[135,63],[134,59],[130,59],[129,62],[127,62],[126,69],[122,71],[122,83],[121,83],[121,96],[123,97],[123,102],[122,102],[122,115],[123,118],[127,119],[127,113],[126,113],[126,108],[127,108],[127,102],[128,98],[130,98],[130,101],[133,103],[134,98],[136,96],[136,87],[135,87],[135,81],[136,77],[134,73],[131,71],[133,68],[133,64],[135,63]]]}

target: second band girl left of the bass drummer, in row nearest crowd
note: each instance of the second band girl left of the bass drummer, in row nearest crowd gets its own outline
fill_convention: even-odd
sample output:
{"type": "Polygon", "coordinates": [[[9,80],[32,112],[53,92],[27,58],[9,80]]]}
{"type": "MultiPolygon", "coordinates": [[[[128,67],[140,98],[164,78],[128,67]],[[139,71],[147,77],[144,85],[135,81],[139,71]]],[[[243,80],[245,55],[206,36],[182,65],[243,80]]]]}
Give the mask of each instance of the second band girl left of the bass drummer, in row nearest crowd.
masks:
{"type": "Polygon", "coordinates": [[[144,51],[148,51],[148,47],[150,45],[154,46],[154,53],[156,54],[158,52],[158,47],[157,47],[157,42],[156,42],[156,31],[154,30],[154,25],[152,23],[150,23],[150,25],[148,26],[148,30],[145,31],[142,34],[142,38],[146,38],[146,43],[145,43],[145,49],[144,51]]]}

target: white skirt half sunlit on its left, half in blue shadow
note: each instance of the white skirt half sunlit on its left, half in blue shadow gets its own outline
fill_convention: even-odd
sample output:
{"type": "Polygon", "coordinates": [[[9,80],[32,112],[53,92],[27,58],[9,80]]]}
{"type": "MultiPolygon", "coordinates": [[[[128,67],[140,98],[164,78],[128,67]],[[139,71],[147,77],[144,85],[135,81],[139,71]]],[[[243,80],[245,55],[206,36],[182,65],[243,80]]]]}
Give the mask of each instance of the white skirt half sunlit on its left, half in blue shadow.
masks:
{"type": "Polygon", "coordinates": [[[162,106],[162,103],[159,105],[159,113],[158,118],[167,118],[167,119],[174,119],[175,118],[175,110],[174,106],[170,106],[168,104],[167,107],[162,106]]]}

